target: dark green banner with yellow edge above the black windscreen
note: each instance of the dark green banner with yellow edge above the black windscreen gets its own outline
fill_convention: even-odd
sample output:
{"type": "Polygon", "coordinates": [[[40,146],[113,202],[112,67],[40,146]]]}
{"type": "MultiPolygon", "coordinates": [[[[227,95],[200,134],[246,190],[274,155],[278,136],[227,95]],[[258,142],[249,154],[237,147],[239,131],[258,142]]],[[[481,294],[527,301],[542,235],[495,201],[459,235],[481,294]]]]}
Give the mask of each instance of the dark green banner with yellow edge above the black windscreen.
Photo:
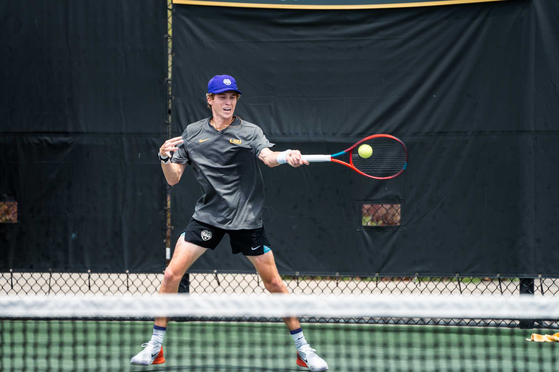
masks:
{"type": "Polygon", "coordinates": [[[504,0],[173,0],[176,4],[283,9],[372,9],[422,7],[504,0]]]}

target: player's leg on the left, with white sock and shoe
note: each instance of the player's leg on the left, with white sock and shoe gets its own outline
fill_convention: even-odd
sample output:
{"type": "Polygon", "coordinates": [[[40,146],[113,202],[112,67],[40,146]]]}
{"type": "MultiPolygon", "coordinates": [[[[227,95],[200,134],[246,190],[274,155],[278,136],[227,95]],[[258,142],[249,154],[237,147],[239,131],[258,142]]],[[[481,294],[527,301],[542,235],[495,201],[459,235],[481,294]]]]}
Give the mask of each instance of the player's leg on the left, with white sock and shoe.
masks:
{"type": "MultiPolygon", "coordinates": [[[[175,245],[173,258],[167,269],[165,269],[165,275],[163,276],[163,282],[161,283],[161,288],[159,288],[159,293],[177,293],[178,285],[184,273],[186,273],[186,270],[188,270],[204,252],[206,252],[206,248],[185,241],[181,236],[177,241],[177,245],[175,245]]],[[[167,323],[169,323],[169,318],[155,318],[151,340],[141,345],[144,347],[144,350],[132,357],[130,364],[151,365],[165,362],[162,342],[165,330],[167,330],[167,323]]]]}

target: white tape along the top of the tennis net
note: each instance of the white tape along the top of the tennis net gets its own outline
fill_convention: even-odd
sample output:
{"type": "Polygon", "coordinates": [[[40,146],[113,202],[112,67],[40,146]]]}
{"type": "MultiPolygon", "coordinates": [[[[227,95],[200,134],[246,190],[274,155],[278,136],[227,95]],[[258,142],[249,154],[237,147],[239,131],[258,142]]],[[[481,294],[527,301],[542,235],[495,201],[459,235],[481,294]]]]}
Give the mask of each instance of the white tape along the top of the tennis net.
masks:
{"type": "Polygon", "coordinates": [[[189,296],[0,298],[0,317],[402,317],[559,319],[559,298],[189,296]]]}

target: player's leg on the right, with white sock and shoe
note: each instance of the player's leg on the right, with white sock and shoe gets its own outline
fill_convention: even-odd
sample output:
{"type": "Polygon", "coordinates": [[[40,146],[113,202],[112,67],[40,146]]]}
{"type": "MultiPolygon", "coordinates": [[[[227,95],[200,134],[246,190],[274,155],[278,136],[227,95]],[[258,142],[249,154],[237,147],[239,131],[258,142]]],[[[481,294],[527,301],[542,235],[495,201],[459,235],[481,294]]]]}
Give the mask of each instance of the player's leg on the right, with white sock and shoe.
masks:
{"type": "MultiPolygon", "coordinates": [[[[280,273],[278,273],[272,251],[259,256],[247,257],[250,262],[253,263],[260,278],[262,278],[264,287],[266,287],[270,293],[289,293],[285,284],[283,284],[280,273]]],[[[311,349],[310,345],[307,344],[305,336],[303,336],[299,319],[297,319],[297,317],[287,317],[283,318],[283,322],[285,322],[291,336],[293,336],[293,341],[295,341],[295,346],[297,347],[297,365],[307,367],[311,372],[328,370],[328,364],[326,364],[321,357],[316,355],[316,350],[311,349]]]]}

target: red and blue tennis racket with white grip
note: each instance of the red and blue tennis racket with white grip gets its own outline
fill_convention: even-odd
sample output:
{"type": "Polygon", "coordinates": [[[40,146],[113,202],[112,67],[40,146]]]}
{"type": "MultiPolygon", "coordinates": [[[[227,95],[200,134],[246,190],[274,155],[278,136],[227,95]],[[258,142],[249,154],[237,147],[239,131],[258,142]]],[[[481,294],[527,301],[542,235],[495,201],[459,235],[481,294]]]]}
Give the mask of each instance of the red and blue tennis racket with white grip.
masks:
{"type": "Polygon", "coordinates": [[[352,168],[363,176],[388,180],[400,176],[408,167],[408,149],[400,139],[390,134],[375,134],[363,138],[352,147],[331,155],[302,155],[307,162],[334,162],[352,168]],[[371,156],[363,158],[358,149],[363,144],[371,146],[371,156]],[[335,159],[349,154],[349,163],[335,159]]]}

